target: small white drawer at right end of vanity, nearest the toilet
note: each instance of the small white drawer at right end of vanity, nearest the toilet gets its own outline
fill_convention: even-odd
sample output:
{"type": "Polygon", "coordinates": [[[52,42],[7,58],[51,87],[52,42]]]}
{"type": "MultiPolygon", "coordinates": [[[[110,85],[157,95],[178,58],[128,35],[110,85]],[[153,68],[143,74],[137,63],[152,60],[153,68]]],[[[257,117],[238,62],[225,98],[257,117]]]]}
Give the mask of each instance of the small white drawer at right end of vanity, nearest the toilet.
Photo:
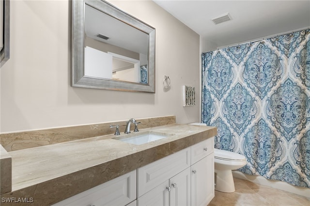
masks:
{"type": "Polygon", "coordinates": [[[196,145],[190,147],[191,149],[191,164],[198,162],[202,158],[214,152],[214,137],[210,137],[196,145]]]}

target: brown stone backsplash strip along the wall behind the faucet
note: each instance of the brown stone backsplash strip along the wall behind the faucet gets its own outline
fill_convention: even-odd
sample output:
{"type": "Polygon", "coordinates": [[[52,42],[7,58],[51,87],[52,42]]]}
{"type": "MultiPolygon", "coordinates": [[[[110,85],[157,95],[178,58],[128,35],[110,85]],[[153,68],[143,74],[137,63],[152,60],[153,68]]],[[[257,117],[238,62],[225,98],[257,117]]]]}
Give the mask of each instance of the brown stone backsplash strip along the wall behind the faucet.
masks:
{"type": "MultiPolygon", "coordinates": [[[[139,124],[139,129],[176,123],[175,116],[141,118],[136,120],[141,122],[141,124],[139,124]]],[[[4,133],[0,134],[0,144],[6,151],[10,152],[20,149],[113,134],[115,132],[115,128],[110,128],[110,125],[119,125],[120,132],[124,132],[125,124],[126,121],[114,121],[26,132],[4,133]]]]}

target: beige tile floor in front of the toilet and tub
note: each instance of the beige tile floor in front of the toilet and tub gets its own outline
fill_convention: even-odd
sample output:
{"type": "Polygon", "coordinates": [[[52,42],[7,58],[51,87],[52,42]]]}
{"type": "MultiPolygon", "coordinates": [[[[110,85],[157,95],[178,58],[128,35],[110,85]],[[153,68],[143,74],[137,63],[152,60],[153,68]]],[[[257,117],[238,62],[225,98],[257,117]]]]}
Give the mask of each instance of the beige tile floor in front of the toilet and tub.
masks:
{"type": "Polygon", "coordinates": [[[235,192],[215,191],[208,206],[310,206],[310,198],[234,178],[235,192]]]}

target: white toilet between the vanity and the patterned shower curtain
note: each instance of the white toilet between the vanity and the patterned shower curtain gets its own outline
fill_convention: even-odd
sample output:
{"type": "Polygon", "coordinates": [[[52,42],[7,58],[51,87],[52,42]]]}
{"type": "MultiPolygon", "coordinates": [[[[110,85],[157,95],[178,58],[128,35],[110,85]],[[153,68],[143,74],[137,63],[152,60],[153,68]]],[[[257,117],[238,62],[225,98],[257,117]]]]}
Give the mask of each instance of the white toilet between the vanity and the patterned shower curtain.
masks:
{"type": "MultiPolygon", "coordinates": [[[[206,126],[204,123],[191,123],[192,125],[206,126]]],[[[214,149],[215,190],[221,192],[234,192],[232,170],[239,169],[247,164],[246,157],[231,151],[214,149]]]]}

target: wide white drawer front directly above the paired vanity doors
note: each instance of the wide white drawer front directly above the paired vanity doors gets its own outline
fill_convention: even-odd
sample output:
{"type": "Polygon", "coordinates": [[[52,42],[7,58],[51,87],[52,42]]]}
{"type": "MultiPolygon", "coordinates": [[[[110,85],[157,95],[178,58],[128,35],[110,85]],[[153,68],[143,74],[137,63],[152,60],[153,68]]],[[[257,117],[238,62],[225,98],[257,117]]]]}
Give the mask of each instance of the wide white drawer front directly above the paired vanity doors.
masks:
{"type": "Polygon", "coordinates": [[[190,166],[190,147],[138,169],[138,197],[190,166]]]}

